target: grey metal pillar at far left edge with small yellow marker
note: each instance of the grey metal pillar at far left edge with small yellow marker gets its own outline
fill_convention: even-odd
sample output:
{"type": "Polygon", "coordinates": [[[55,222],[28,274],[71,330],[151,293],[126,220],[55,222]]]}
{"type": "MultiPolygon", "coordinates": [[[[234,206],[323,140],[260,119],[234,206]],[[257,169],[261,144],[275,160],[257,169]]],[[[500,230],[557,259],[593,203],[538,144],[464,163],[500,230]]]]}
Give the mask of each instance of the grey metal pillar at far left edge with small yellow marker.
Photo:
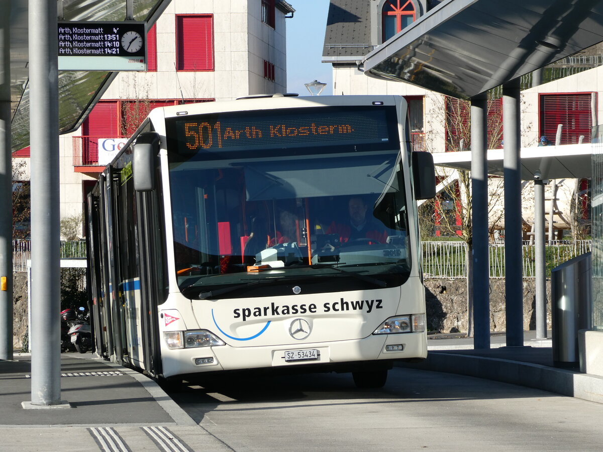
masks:
{"type": "Polygon", "coordinates": [[[10,149],[10,2],[0,17],[0,359],[13,359],[13,165],[10,149]]]}

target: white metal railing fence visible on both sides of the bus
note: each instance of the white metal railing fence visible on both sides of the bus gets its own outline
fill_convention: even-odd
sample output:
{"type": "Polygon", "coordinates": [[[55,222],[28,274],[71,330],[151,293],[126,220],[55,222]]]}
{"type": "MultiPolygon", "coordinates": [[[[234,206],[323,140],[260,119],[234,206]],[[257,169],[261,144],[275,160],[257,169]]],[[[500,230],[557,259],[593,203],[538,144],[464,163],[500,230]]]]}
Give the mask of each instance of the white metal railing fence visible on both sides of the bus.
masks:
{"type": "MultiPolygon", "coordinates": [[[[546,242],[546,273],[572,257],[587,253],[592,248],[591,240],[552,240],[546,242]]],[[[423,272],[426,278],[466,278],[467,243],[423,242],[423,272]]],[[[27,260],[31,259],[30,240],[13,240],[13,270],[27,271],[27,260]]],[[[534,245],[523,242],[523,277],[535,277],[534,245]]],[[[61,259],[86,257],[86,242],[83,240],[62,241],[61,259]]],[[[505,246],[490,244],[490,278],[505,277],[505,246]]]]}

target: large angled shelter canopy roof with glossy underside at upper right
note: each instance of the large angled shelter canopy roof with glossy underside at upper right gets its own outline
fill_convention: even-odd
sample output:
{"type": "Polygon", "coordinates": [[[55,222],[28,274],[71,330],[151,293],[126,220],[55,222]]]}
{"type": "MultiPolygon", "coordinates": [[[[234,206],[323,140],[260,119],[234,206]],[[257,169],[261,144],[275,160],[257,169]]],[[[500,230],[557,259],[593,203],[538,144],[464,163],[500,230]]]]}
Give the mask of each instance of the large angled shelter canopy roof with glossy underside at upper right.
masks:
{"type": "Polygon", "coordinates": [[[599,0],[447,0],[362,65],[371,77],[467,99],[520,77],[526,88],[599,66],[602,52],[585,49],[602,41],[599,0]]]}

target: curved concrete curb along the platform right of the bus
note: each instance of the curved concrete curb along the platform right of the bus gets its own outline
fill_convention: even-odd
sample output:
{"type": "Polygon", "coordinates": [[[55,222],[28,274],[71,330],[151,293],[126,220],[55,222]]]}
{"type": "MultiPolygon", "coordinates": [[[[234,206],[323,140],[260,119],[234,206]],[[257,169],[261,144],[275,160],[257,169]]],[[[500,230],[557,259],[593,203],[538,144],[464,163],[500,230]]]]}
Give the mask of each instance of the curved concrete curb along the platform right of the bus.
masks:
{"type": "Polygon", "coordinates": [[[539,364],[430,351],[423,362],[399,362],[396,366],[469,375],[603,403],[603,377],[539,364]]]}

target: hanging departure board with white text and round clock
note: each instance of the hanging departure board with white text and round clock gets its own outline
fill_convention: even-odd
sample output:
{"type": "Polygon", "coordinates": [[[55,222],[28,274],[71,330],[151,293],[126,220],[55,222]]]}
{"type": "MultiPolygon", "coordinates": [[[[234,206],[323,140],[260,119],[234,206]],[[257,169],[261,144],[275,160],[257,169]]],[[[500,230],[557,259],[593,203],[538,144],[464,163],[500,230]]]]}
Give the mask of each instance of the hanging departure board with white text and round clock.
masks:
{"type": "Polygon", "coordinates": [[[58,22],[60,71],[145,71],[144,22],[58,22]]]}

